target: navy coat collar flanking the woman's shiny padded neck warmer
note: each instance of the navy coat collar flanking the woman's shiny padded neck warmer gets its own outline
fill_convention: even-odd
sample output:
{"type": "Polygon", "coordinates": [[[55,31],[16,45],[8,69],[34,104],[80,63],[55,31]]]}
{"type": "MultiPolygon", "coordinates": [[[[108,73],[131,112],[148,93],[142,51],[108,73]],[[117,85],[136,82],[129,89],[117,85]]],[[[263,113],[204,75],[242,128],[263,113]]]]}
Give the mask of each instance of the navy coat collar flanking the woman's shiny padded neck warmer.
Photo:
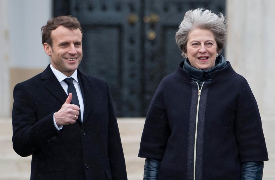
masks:
{"type": "MultiPolygon", "coordinates": [[[[235,73],[235,71],[233,70],[233,68],[230,65],[230,62],[229,61],[226,61],[226,62],[227,62],[227,66],[225,68],[217,70],[213,73],[211,82],[225,79],[225,78],[231,76],[233,73],[235,73]]],[[[184,64],[184,61],[180,62],[177,69],[175,70],[174,74],[178,78],[180,78],[184,81],[192,81],[188,71],[186,71],[182,68],[183,64],[184,64]]]]}

